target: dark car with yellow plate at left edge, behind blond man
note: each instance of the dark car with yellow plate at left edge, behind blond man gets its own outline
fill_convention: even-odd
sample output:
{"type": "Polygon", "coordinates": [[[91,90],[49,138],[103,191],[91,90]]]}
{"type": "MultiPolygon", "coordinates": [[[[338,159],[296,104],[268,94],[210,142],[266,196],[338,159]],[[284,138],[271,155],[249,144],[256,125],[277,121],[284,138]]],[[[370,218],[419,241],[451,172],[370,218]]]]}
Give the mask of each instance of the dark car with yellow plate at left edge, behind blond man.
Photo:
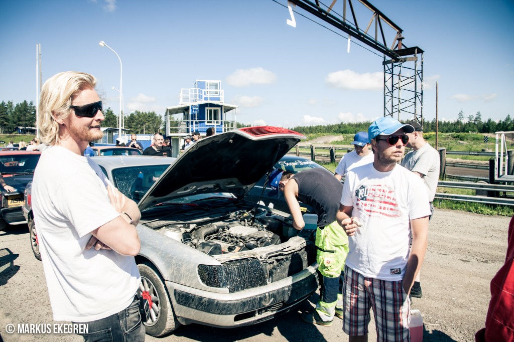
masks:
{"type": "Polygon", "coordinates": [[[34,177],[34,168],[38,164],[41,152],[1,151],[0,173],[7,185],[15,191],[7,192],[0,187],[0,231],[7,224],[24,224],[22,213],[23,193],[27,183],[34,177]]]}

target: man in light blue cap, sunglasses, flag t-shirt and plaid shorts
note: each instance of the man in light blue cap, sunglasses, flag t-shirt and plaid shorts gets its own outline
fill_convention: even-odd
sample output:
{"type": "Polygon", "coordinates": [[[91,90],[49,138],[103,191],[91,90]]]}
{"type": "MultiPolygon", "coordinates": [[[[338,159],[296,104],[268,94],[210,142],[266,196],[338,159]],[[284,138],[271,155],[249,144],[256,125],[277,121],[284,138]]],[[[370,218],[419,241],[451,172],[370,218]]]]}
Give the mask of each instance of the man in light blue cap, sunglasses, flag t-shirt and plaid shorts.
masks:
{"type": "Polygon", "coordinates": [[[430,216],[423,180],[398,165],[413,131],[391,117],[375,120],[368,129],[373,163],[346,174],[337,221],[350,246],[343,331],[351,342],[368,340],[370,308],[377,340],[410,337],[409,292],[425,257],[430,216]]]}

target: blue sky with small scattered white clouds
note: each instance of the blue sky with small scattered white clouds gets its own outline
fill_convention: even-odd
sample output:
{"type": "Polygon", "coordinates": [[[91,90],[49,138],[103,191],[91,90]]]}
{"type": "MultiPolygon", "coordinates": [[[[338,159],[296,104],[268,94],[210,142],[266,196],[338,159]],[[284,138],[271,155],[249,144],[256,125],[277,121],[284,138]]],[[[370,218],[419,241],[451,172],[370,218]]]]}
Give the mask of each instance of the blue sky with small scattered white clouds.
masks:
{"type": "MultiPolygon", "coordinates": [[[[332,3],[331,0],[326,0],[332,3]]],[[[514,2],[371,0],[424,54],[424,120],[511,116],[514,2]]],[[[342,13],[343,1],[335,10],[342,13]],[[339,8],[340,7],[340,8],[339,8]]],[[[359,4],[360,5],[360,4],[359,4]]],[[[195,80],[221,80],[237,121],[284,127],[383,116],[382,55],[301,15],[286,0],[21,0],[0,9],[0,101],[35,101],[36,43],[43,81],[66,70],[98,80],[104,106],[119,112],[178,104],[195,80]]],[[[362,7],[360,7],[362,8],[362,7]]],[[[297,8],[301,14],[305,11],[297,8]]],[[[361,12],[364,13],[364,12],[361,12]]],[[[367,25],[371,14],[363,25],[367,25]]],[[[361,24],[362,25],[362,24],[361,24]]],[[[405,118],[410,119],[410,118],[405,118]]]]}

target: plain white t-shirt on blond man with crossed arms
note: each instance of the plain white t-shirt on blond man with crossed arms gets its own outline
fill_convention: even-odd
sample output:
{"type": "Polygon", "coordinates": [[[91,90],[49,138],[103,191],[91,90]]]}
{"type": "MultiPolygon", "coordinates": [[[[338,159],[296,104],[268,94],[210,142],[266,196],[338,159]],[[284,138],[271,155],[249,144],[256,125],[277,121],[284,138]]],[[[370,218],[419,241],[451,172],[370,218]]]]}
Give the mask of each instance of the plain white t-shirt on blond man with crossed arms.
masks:
{"type": "Polygon", "coordinates": [[[32,209],[54,320],[108,317],[139,287],[134,257],[85,249],[91,231],[119,216],[107,184],[95,162],[60,146],[46,148],[35,168],[32,209]]]}

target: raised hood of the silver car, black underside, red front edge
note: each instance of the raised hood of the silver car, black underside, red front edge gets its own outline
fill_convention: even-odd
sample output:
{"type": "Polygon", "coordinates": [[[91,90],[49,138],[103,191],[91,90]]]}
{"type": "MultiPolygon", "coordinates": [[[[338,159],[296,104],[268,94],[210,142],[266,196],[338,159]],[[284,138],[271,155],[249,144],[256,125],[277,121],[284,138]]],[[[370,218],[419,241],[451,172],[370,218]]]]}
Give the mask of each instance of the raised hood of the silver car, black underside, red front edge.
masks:
{"type": "Polygon", "coordinates": [[[271,126],[246,127],[200,139],[162,174],[139,201],[139,209],[203,193],[243,196],[301,139],[271,126]]]}

